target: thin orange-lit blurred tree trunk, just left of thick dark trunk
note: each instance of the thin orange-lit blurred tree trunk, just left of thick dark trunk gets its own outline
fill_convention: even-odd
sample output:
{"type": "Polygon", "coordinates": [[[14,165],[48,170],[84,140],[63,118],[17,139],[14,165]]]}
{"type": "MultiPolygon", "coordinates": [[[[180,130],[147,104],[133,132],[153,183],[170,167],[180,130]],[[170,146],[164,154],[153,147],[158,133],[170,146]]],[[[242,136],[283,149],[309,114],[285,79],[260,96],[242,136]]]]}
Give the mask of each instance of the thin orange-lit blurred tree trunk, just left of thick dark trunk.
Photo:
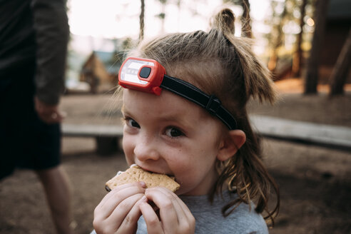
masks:
{"type": "Polygon", "coordinates": [[[296,41],[296,51],[292,56],[292,77],[301,76],[301,65],[302,65],[302,34],[303,34],[303,26],[305,25],[305,21],[303,18],[305,17],[305,8],[307,5],[307,0],[302,0],[302,4],[300,6],[300,34],[297,35],[296,41]]]}

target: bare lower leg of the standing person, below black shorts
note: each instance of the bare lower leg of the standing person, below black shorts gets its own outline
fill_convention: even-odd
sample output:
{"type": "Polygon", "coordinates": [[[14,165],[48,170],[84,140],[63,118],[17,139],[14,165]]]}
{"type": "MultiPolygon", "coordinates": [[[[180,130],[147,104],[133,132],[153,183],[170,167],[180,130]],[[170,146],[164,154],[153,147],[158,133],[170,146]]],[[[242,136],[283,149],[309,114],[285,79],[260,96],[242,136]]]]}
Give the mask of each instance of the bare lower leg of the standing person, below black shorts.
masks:
{"type": "Polygon", "coordinates": [[[61,166],[36,171],[44,186],[57,233],[72,233],[71,186],[61,166]]]}

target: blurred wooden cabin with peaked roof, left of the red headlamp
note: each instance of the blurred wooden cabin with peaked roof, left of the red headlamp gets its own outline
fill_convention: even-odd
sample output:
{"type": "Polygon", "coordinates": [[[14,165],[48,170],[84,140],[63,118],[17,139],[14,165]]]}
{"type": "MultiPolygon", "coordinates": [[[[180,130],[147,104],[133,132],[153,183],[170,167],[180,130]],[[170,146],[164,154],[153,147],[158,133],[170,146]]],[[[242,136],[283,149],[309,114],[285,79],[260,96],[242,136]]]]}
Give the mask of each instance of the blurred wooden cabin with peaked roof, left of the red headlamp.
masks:
{"type": "Polygon", "coordinates": [[[84,81],[91,87],[91,93],[101,93],[113,90],[118,81],[120,61],[115,61],[116,53],[93,51],[83,63],[79,81],[84,81]]]}

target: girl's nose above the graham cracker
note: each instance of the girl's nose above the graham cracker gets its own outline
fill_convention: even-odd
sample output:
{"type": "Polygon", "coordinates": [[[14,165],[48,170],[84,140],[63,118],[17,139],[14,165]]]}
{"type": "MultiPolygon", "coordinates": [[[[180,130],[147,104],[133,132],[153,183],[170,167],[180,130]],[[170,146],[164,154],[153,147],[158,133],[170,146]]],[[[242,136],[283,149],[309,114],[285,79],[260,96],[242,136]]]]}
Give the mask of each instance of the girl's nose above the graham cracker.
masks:
{"type": "Polygon", "coordinates": [[[160,158],[156,146],[156,142],[151,138],[139,141],[134,148],[134,154],[139,161],[156,161],[160,158]]]}

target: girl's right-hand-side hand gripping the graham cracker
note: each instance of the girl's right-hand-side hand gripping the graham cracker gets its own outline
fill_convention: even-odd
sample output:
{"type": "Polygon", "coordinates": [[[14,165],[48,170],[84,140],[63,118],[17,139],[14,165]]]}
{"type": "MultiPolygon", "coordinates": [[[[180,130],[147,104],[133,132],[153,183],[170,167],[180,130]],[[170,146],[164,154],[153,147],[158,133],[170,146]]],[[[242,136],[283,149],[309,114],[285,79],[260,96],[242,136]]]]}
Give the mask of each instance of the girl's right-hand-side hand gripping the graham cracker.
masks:
{"type": "Polygon", "coordinates": [[[146,198],[155,203],[159,209],[153,208],[147,201],[139,205],[148,234],[195,232],[195,218],[188,206],[171,190],[161,187],[148,188],[146,198]]]}

